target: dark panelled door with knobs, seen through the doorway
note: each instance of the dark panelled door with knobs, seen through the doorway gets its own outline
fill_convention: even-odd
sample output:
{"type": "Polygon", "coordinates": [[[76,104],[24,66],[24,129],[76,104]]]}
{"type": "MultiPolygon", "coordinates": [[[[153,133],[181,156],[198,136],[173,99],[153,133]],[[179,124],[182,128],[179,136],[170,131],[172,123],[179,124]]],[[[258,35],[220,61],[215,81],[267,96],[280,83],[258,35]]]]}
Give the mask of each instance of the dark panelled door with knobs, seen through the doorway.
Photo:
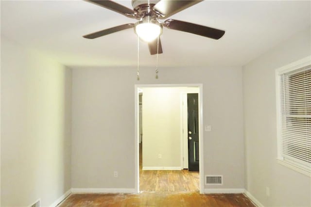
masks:
{"type": "Polygon", "coordinates": [[[187,94],[188,104],[188,170],[199,171],[199,98],[187,94]]]}

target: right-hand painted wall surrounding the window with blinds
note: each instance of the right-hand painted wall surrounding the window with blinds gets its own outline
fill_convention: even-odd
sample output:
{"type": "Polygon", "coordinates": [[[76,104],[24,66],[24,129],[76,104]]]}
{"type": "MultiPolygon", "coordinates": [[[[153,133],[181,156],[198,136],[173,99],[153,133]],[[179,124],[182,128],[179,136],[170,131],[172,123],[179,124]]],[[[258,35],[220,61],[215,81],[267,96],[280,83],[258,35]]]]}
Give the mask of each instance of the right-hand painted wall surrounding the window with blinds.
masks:
{"type": "Polygon", "coordinates": [[[311,206],[311,178],[276,161],[275,69],[311,55],[311,31],[300,32],[244,66],[246,189],[267,207],[311,206]],[[270,197],[266,195],[270,188],[270,197]]]}

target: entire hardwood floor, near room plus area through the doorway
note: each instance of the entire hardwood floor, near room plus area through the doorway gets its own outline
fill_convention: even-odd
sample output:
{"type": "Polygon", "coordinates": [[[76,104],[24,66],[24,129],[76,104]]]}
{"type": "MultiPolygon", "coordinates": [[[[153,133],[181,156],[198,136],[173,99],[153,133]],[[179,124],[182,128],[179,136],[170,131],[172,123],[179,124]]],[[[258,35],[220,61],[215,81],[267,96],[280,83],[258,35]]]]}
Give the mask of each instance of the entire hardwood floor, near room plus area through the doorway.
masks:
{"type": "Polygon", "coordinates": [[[58,207],[256,207],[242,193],[200,194],[197,172],[143,171],[141,161],[140,193],[71,194],[58,207]]]}

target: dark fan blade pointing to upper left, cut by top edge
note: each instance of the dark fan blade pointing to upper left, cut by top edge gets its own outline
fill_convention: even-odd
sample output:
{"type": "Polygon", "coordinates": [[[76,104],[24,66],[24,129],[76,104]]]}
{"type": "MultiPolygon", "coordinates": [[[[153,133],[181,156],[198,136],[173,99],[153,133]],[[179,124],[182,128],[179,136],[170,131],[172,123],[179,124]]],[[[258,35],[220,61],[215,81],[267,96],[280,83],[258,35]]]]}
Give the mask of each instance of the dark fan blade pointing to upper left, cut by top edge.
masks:
{"type": "Polygon", "coordinates": [[[110,9],[114,12],[118,12],[121,15],[136,18],[136,13],[134,12],[134,10],[127,8],[126,6],[123,6],[115,1],[112,0],[86,0],[86,1],[97,4],[106,9],[110,9]]]}

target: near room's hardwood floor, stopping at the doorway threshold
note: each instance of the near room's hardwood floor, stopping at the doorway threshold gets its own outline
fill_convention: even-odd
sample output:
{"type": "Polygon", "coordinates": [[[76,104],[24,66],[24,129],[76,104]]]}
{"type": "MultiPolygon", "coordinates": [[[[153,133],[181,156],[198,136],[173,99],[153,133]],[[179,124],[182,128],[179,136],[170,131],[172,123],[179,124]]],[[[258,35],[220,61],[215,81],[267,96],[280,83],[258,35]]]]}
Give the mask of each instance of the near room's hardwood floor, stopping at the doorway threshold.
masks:
{"type": "Polygon", "coordinates": [[[142,192],[72,194],[59,207],[256,207],[244,194],[142,192]]]}

